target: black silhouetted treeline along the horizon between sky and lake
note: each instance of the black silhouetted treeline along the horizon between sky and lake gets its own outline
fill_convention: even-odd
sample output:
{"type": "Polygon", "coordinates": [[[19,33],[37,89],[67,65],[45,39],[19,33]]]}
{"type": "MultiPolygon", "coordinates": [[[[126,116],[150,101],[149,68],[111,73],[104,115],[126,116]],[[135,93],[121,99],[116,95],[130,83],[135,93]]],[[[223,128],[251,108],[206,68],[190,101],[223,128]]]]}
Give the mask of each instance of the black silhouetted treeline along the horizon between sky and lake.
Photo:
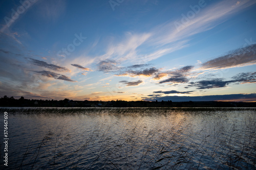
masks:
{"type": "Polygon", "coordinates": [[[172,102],[172,101],[73,101],[30,100],[23,96],[19,99],[4,96],[0,99],[1,107],[256,107],[256,102],[172,102]]]}

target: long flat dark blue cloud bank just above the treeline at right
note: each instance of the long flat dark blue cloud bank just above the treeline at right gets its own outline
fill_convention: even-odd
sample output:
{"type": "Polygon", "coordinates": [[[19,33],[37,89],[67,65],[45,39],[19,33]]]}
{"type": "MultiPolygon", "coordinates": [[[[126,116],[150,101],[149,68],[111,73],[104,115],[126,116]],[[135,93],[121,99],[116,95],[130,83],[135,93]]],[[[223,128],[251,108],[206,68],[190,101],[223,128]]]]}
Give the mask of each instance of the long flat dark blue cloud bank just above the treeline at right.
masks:
{"type": "Polygon", "coordinates": [[[253,102],[256,101],[256,94],[224,94],[224,95],[204,95],[204,96],[148,96],[142,97],[145,101],[234,101],[234,102],[253,102]]]}

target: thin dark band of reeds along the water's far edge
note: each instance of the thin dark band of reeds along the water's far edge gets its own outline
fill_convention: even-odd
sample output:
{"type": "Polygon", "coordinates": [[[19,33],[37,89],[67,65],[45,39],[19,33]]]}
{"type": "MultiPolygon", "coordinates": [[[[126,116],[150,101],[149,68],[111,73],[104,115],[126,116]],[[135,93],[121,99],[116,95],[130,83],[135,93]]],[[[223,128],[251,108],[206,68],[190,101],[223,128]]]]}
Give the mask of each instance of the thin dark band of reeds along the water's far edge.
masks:
{"type": "Polygon", "coordinates": [[[102,112],[109,114],[152,114],[163,112],[180,112],[180,111],[237,111],[237,110],[256,110],[255,107],[125,107],[125,108],[100,108],[100,107],[0,107],[1,112],[11,112],[12,114],[101,114],[102,112]]]}

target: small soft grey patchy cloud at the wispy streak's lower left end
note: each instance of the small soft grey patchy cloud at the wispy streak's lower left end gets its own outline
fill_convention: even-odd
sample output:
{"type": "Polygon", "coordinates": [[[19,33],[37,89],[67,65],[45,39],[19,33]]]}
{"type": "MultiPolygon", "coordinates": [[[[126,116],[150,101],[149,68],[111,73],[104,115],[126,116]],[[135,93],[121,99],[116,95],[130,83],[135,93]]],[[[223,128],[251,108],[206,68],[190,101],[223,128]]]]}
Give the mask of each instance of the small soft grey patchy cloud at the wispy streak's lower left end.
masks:
{"type": "Polygon", "coordinates": [[[97,64],[98,70],[103,72],[117,71],[120,67],[116,66],[118,63],[114,60],[104,60],[97,64]]]}

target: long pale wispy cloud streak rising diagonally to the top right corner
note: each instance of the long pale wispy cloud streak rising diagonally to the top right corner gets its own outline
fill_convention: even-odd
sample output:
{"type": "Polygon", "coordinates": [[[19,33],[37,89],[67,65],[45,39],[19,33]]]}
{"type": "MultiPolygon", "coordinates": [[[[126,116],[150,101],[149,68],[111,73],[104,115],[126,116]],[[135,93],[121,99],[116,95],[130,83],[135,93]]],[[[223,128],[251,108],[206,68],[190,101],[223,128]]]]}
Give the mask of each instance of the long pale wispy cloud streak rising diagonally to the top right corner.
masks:
{"type": "Polygon", "coordinates": [[[175,23],[181,22],[182,16],[144,33],[126,32],[123,40],[110,44],[106,54],[101,58],[114,59],[118,62],[131,60],[142,64],[155,60],[188,46],[191,36],[215,28],[227,18],[255,3],[252,0],[245,0],[239,4],[234,1],[221,1],[202,8],[194,18],[189,19],[187,23],[182,23],[179,29],[176,28],[175,23]]]}

